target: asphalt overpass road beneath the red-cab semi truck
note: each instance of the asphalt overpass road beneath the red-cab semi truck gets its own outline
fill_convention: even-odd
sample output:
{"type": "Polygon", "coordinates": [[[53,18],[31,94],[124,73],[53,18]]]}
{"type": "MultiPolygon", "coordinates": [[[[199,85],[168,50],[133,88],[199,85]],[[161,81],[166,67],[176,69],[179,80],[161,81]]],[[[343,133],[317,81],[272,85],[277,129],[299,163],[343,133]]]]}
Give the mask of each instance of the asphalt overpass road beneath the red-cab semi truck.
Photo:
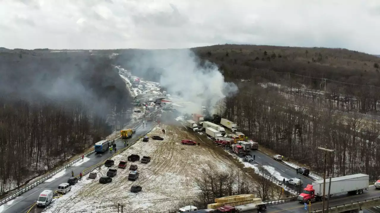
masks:
{"type": "MultiPolygon", "coordinates": [[[[334,195],[330,198],[330,206],[331,205],[338,205],[343,204],[351,201],[356,200],[364,200],[372,197],[378,197],[380,196],[380,190],[376,190],[375,187],[370,187],[368,191],[364,191],[363,194],[359,195],[347,195],[347,194],[338,194],[334,195]]],[[[322,208],[322,202],[314,202],[311,205],[312,210],[322,208]]],[[[274,206],[268,206],[266,213],[305,213],[309,212],[309,209],[307,211],[304,209],[304,204],[300,203],[298,201],[289,202],[285,204],[279,204],[274,206]]],[[[371,211],[365,211],[365,212],[371,212],[371,211]]]]}

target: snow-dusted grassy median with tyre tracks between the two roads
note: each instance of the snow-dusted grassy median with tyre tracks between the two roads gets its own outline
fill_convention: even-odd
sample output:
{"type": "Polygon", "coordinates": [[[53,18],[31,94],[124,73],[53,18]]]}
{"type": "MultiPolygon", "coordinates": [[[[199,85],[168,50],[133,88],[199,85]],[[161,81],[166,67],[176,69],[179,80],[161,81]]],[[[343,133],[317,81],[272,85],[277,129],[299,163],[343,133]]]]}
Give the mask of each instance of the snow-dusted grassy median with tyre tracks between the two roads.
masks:
{"type": "MultiPolygon", "coordinates": [[[[106,175],[109,168],[101,166],[95,180],[84,180],[75,186],[75,190],[55,200],[45,213],[114,213],[117,204],[124,206],[125,212],[168,212],[181,200],[189,200],[198,196],[199,190],[194,179],[201,175],[203,168],[215,168],[219,171],[234,169],[234,163],[207,146],[186,146],[180,144],[187,134],[182,128],[161,125],[155,127],[148,135],[159,135],[163,141],[140,139],[129,149],[115,155],[112,159],[117,169],[112,183],[100,184],[99,178],[106,175]],[[166,134],[161,132],[165,128],[166,134]],[[127,160],[131,154],[150,156],[148,164],[136,161],[139,179],[128,180],[128,168],[118,169],[120,160],[127,160]],[[142,186],[139,193],[131,193],[132,185],[142,186]]],[[[190,136],[190,135],[189,135],[190,136]]],[[[192,136],[190,136],[192,137],[192,136]]],[[[236,170],[238,170],[236,168],[236,170]]]]}

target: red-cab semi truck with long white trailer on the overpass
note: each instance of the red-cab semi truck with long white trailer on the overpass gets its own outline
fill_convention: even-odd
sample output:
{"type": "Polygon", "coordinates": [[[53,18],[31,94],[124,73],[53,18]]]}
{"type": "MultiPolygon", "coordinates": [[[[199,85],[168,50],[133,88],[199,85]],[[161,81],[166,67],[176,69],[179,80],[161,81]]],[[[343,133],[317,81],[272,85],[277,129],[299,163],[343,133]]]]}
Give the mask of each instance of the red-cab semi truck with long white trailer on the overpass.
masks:
{"type": "MultiPolygon", "coordinates": [[[[328,195],[329,185],[329,179],[326,179],[325,196],[328,195]]],[[[331,178],[330,195],[339,193],[362,194],[363,190],[368,190],[368,185],[369,175],[367,174],[333,177],[331,178]]],[[[323,199],[323,180],[312,182],[312,185],[308,184],[297,199],[299,202],[308,204],[323,199]]]]}

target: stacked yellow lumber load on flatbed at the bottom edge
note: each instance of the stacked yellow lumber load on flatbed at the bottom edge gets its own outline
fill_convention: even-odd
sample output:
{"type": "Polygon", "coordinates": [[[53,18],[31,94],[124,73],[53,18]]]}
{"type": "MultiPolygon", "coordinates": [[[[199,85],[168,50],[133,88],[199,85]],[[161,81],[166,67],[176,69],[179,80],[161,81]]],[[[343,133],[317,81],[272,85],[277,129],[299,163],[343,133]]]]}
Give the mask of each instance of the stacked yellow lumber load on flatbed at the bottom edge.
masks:
{"type": "Polygon", "coordinates": [[[208,204],[207,208],[218,208],[224,205],[237,206],[243,204],[261,204],[261,198],[255,198],[253,194],[239,194],[227,197],[215,198],[214,204],[208,204]]]}

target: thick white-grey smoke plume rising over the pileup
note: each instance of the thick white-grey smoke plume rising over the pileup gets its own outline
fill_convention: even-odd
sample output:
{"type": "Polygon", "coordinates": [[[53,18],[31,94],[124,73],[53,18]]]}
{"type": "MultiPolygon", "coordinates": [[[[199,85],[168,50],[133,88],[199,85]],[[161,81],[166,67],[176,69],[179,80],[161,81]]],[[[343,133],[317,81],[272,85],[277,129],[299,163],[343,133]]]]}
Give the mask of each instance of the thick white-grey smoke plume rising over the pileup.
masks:
{"type": "Polygon", "coordinates": [[[214,113],[220,100],[237,92],[217,65],[199,60],[189,49],[136,50],[123,55],[126,58],[118,60],[121,66],[145,80],[158,81],[176,102],[183,103],[183,108],[177,108],[182,113],[201,113],[202,106],[214,113]]]}

